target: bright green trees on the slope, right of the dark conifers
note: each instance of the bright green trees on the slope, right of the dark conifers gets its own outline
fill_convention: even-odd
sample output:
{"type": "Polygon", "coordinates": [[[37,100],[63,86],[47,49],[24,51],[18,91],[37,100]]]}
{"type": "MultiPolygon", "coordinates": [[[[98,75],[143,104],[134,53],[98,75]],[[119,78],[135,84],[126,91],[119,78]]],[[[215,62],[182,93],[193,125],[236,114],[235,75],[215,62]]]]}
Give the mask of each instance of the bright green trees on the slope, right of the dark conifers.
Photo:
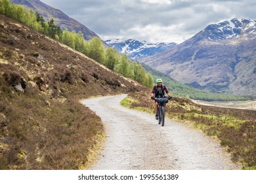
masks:
{"type": "Polygon", "coordinates": [[[63,31],[60,41],[122,76],[132,78],[149,88],[154,85],[152,75],[147,73],[142,65],[136,61],[130,61],[127,54],[119,54],[114,48],[108,47],[105,49],[98,37],[85,41],[81,31],[76,33],[66,29],[63,31]]]}

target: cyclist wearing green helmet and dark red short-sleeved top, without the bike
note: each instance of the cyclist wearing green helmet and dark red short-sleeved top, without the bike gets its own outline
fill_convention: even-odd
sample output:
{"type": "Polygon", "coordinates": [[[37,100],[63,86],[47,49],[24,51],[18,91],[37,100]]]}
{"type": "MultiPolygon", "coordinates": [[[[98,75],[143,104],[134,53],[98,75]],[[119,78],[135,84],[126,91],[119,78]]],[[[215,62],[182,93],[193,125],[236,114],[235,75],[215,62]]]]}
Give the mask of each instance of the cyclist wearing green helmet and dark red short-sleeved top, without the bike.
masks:
{"type": "Polygon", "coordinates": [[[169,93],[166,86],[164,86],[162,83],[163,81],[161,80],[161,78],[158,78],[156,80],[156,85],[154,86],[151,92],[151,99],[155,100],[156,120],[158,120],[158,97],[163,97],[166,92],[168,95],[168,99],[171,99],[171,93],[169,93]]]}

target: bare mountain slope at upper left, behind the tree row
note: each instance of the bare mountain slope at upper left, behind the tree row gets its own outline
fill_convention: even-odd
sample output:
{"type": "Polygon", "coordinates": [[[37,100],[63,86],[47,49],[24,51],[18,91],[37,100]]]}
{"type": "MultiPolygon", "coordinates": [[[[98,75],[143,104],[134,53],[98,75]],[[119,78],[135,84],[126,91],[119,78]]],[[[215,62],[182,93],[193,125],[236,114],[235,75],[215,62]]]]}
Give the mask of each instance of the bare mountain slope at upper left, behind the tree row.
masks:
{"type": "Polygon", "coordinates": [[[85,40],[90,40],[93,37],[98,37],[95,32],[91,31],[85,25],[80,24],[73,18],[70,18],[61,10],[50,7],[39,0],[10,0],[11,3],[24,5],[26,8],[32,8],[49,21],[53,18],[56,25],[60,26],[61,29],[68,29],[69,31],[75,30],[77,33],[81,31],[85,40]]]}

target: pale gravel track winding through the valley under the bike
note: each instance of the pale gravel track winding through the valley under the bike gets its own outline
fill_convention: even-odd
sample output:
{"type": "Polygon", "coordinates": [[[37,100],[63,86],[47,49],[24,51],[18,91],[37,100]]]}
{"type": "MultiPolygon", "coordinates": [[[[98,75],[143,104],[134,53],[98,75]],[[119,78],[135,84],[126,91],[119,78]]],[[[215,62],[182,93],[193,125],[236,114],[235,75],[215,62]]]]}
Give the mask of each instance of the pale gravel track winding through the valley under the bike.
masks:
{"type": "Polygon", "coordinates": [[[83,100],[106,127],[101,157],[91,169],[239,169],[217,141],[201,131],[154,115],[121,107],[127,95],[83,100]]]}

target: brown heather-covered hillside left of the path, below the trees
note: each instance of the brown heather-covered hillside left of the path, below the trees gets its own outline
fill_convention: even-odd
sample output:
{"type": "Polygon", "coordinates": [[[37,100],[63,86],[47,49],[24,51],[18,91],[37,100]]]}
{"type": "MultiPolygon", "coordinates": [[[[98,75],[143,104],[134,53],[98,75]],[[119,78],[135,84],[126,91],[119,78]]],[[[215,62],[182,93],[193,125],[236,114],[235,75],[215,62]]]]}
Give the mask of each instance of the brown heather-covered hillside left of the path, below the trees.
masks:
{"type": "Polygon", "coordinates": [[[104,127],[79,100],[146,90],[0,14],[0,169],[81,169],[104,127]]]}

